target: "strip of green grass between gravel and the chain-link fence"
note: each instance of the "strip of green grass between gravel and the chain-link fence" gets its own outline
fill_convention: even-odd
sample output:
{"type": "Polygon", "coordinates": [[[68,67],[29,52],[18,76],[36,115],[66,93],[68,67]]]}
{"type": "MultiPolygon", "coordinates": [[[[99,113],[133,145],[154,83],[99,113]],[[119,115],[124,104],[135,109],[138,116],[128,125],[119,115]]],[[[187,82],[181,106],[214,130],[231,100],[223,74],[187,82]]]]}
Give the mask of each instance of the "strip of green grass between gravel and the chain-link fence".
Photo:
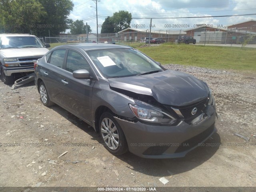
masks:
{"type": "Polygon", "coordinates": [[[212,69],[256,71],[256,48],[165,43],[158,47],[130,44],[161,64],[182,64],[212,69]]]}

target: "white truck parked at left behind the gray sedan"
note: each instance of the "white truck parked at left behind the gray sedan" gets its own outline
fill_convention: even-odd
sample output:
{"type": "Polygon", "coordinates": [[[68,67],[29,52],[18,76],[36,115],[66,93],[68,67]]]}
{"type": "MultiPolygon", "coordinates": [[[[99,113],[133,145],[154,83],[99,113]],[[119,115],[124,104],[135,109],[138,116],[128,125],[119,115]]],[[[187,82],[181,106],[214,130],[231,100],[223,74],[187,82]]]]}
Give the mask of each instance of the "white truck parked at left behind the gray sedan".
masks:
{"type": "Polygon", "coordinates": [[[48,52],[50,44],[30,34],[0,34],[0,74],[5,84],[14,83],[17,74],[34,71],[34,62],[48,52]]]}

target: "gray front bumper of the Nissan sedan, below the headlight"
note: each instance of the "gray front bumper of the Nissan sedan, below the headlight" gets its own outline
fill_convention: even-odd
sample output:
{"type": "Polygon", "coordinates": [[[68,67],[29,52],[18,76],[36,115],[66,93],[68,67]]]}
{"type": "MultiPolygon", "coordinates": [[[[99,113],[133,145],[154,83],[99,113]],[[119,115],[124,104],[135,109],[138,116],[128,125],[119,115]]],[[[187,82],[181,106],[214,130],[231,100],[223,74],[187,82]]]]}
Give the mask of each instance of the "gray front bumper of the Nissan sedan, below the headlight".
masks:
{"type": "Polygon", "coordinates": [[[142,158],[178,158],[205,142],[217,130],[215,106],[208,106],[204,118],[193,125],[156,126],[116,118],[126,136],[129,151],[142,158]]]}

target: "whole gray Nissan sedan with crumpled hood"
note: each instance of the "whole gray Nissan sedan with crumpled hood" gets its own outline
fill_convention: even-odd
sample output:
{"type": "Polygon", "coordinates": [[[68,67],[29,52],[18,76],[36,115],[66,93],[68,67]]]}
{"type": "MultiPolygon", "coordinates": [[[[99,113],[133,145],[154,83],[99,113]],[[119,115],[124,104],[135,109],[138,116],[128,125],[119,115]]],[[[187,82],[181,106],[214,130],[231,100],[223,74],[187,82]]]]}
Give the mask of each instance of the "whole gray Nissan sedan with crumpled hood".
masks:
{"type": "Polygon", "coordinates": [[[42,103],[58,104],[91,125],[114,155],[183,157],[216,132],[207,84],[134,48],[63,45],[34,68],[42,103]]]}

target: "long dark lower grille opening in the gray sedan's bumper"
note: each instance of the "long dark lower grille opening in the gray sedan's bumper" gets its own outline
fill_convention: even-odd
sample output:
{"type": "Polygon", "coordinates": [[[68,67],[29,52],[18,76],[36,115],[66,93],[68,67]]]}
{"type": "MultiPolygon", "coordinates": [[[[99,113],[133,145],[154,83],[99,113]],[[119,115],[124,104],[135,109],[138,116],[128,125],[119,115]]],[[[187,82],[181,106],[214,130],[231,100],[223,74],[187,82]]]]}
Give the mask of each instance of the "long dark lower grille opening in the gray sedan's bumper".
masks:
{"type": "Polygon", "coordinates": [[[210,126],[208,129],[203,131],[202,133],[182,142],[180,146],[176,149],[175,153],[184,152],[186,150],[189,150],[193,148],[194,146],[197,146],[200,144],[203,140],[205,140],[214,130],[214,124],[210,126]]]}

